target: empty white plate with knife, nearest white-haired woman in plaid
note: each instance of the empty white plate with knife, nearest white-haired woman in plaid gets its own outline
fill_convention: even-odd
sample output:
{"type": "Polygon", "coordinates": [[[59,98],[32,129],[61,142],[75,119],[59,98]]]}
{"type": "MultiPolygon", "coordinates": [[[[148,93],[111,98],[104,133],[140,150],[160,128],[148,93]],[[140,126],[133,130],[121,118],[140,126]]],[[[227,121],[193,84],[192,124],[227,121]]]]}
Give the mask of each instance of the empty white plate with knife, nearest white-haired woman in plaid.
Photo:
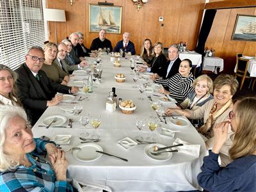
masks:
{"type": "Polygon", "coordinates": [[[84,143],[77,146],[81,150],[73,150],[73,156],[79,161],[95,161],[102,154],[95,152],[96,150],[103,151],[102,147],[95,143],[84,143]]]}

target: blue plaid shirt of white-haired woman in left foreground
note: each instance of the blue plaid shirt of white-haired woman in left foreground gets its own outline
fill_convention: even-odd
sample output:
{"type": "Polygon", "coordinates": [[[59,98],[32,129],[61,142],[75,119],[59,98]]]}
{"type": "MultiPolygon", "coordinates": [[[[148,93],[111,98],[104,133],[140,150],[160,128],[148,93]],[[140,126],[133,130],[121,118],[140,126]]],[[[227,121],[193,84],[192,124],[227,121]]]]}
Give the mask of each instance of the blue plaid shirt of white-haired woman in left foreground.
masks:
{"type": "Polygon", "coordinates": [[[56,180],[56,174],[43,159],[39,159],[36,155],[45,152],[45,144],[38,138],[34,139],[36,148],[33,152],[26,154],[32,166],[17,166],[13,171],[6,170],[0,172],[0,191],[70,191],[72,186],[65,180],[56,180]]]}

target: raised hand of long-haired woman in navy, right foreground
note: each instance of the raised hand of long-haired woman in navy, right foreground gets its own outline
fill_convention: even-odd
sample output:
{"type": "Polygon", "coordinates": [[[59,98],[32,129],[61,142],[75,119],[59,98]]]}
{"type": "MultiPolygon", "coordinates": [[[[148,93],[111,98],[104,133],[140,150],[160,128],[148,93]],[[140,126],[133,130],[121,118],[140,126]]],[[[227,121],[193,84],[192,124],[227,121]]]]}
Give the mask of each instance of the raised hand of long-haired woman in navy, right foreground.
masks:
{"type": "Polygon", "coordinates": [[[222,145],[226,142],[228,138],[228,125],[229,121],[221,122],[220,124],[216,124],[214,127],[214,145],[212,147],[212,152],[214,154],[219,154],[222,145]]]}

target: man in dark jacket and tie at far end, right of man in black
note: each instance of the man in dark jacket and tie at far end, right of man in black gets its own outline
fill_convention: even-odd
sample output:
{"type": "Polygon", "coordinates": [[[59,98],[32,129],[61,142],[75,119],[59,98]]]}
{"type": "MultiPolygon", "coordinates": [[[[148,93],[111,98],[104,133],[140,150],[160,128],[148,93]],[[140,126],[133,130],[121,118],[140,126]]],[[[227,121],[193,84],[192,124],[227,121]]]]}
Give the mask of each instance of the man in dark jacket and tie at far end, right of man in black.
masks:
{"type": "Polygon", "coordinates": [[[128,32],[124,32],[123,34],[123,40],[121,40],[120,42],[117,42],[115,48],[114,48],[114,52],[119,52],[120,49],[124,50],[125,52],[131,52],[131,54],[135,54],[135,48],[134,48],[134,44],[129,41],[130,38],[130,34],[128,32]]]}

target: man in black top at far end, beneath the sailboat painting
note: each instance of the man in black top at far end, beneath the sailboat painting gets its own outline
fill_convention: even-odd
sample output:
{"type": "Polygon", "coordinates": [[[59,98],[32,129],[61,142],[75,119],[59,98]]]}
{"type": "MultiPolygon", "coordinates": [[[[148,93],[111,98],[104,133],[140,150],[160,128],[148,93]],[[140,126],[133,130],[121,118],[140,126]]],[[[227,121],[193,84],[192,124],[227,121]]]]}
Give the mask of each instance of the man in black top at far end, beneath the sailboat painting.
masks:
{"type": "Polygon", "coordinates": [[[93,39],[92,45],[91,45],[91,50],[92,51],[98,51],[99,48],[104,49],[106,47],[107,49],[110,48],[110,52],[113,50],[111,41],[109,41],[106,38],[107,31],[105,29],[100,29],[99,32],[99,37],[93,39]]]}

